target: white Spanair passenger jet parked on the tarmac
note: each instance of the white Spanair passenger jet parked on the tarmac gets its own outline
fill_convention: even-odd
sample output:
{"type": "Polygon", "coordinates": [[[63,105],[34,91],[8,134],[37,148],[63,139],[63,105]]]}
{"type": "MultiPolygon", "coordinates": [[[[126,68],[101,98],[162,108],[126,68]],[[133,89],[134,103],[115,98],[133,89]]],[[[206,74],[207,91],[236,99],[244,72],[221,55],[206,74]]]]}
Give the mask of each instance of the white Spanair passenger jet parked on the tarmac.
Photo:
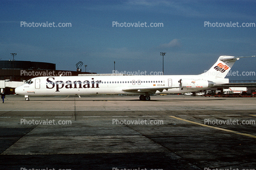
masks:
{"type": "MultiPolygon", "coordinates": [[[[255,57],[250,56],[250,57],[255,57]]],[[[29,96],[59,96],[82,94],[137,94],[149,101],[151,94],[186,93],[205,90],[228,83],[228,71],[239,58],[222,55],[205,73],[180,76],[128,76],[124,74],[81,74],[79,76],[36,77],[15,89],[16,94],[29,96]]]]}

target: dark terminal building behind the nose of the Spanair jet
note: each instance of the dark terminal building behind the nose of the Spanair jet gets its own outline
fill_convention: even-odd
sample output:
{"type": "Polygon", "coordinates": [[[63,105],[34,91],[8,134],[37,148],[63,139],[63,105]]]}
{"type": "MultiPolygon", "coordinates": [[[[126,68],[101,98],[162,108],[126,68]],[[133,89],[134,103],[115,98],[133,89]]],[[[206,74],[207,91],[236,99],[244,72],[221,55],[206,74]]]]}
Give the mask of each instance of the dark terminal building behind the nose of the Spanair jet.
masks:
{"type": "Polygon", "coordinates": [[[96,74],[89,72],[56,70],[55,63],[0,60],[0,88],[6,94],[14,94],[14,89],[24,81],[40,76],[78,76],[78,74],[96,74]]]}

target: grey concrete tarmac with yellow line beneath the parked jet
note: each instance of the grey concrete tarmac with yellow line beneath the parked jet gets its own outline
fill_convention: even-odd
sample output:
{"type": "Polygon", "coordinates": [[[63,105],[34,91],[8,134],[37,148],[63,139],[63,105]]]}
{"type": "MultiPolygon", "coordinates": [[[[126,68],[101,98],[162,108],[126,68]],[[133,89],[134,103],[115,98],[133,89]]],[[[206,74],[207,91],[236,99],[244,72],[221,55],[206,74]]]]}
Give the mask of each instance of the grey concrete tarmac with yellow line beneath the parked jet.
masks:
{"type": "Polygon", "coordinates": [[[7,96],[0,169],[256,169],[256,97],[7,96]]]}

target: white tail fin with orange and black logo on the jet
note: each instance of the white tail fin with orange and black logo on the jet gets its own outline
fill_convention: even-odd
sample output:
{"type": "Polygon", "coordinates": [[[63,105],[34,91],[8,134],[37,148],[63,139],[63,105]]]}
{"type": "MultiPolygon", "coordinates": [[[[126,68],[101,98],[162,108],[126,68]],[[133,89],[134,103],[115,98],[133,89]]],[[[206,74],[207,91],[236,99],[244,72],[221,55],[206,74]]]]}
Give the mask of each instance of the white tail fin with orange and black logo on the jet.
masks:
{"type": "Polygon", "coordinates": [[[240,57],[222,55],[208,71],[200,75],[225,78],[225,76],[228,74],[228,71],[230,71],[236,60],[239,60],[239,58],[240,57]]]}

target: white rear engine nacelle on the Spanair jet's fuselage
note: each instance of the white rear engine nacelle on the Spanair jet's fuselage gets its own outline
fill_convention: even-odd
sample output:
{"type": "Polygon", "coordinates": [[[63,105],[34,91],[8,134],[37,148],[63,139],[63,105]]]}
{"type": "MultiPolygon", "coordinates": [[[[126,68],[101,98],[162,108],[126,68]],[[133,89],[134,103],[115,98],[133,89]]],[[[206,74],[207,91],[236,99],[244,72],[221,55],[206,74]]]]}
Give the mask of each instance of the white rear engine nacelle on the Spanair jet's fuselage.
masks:
{"type": "Polygon", "coordinates": [[[179,86],[182,88],[210,88],[214,86],[214,82],[208,80],[180,79],[179,86]]]}

